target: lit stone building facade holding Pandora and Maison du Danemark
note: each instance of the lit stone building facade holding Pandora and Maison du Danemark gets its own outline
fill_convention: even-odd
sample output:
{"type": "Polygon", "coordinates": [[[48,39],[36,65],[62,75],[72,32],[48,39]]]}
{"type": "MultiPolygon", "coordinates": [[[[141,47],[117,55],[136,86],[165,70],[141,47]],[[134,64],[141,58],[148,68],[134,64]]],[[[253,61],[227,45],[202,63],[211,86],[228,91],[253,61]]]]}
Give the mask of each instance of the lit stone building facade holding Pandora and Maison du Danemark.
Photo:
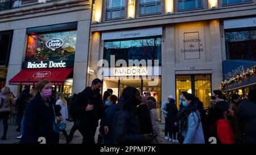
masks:
{"type": "Polygon", "coordinates": [[[164,100],[173,95],[179,107],[182,91],[195,94],[207,108],[227,59],[224,22],[255,19],[255,12],[254,0],[96,0],[87,83],[101,75],[103,91],[112,88],[118,96],[127,86],[149,91],[159,120],[164,100]],[[129,60],[146,60],[146,67],[129,60]]]}

